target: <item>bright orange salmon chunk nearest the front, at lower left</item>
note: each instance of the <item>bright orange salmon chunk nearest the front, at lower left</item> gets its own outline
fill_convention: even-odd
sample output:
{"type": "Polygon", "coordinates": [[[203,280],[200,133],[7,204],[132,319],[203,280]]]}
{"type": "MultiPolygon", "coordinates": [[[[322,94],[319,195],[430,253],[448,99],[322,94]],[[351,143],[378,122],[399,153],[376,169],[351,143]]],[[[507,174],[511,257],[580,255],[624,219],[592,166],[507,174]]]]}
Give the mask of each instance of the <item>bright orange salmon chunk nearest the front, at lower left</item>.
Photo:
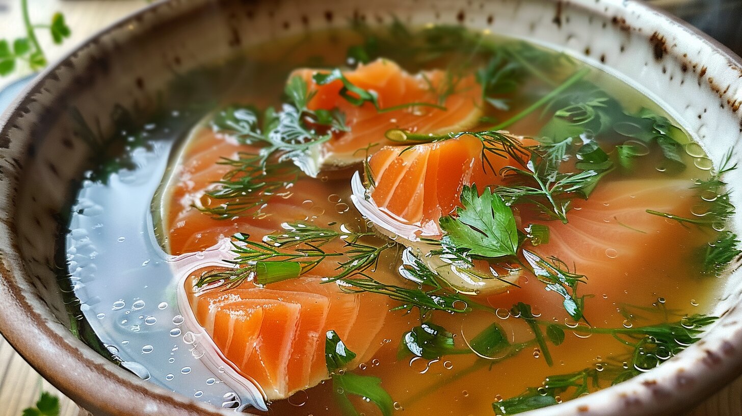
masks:
{"type": "Polygon", "coordinates": [[[246,282],[231,290],[196,290],[200,273],[183,287],[198,325],[223,359],[260,386],[267,400],[289,397],[329,377],[327,331],[335,331],[358,354],[349,367],[370,360],[381,347],[379,333],[389,309],[384,296],[343,293],[316,277],[269,287],[246,282]]]}

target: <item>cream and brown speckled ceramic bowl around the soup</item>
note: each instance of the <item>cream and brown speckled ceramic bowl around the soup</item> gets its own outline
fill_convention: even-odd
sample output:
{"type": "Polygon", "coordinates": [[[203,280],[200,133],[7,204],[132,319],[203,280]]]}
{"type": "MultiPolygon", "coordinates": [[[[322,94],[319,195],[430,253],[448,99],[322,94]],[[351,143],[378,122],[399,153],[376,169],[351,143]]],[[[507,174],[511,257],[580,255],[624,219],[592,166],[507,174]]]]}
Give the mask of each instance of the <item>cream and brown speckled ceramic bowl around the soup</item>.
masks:
{"type": "MultiPolygon", "coordinates": [[[[0,331],[41,374],[94,415],[226,415],[109,363],[70,334],[56,283],[59,215],[90,151],[68,109],[110,130],[111,109],[153,103],[174,74],[275,36],[397,16],[559,48],[643,89],[715,162],[742,137],[737,56],[668,16],[622,0],[346,0],[157,3],[94,36],[36,79],[0,119],[0,331]]],[[[742,206],[742,169],[727,180],[742,206]]],[[[735,219],[740,233],[740,220],[735,219]]],[[[735,261],[718,323],[660,368],[528,415],[676,415],[742,374],[742,272],[735,261]]],[[[524,414],[526,415],[526,414],[524,414]]]]}

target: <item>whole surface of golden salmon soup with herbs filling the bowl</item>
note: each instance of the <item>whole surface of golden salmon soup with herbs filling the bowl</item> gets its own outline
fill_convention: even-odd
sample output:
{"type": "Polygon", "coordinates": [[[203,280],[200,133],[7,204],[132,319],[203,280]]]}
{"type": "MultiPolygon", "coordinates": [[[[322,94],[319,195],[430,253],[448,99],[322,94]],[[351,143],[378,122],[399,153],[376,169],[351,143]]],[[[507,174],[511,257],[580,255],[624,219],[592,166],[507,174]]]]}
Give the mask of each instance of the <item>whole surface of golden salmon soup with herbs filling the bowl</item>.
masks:
{"type": "Polygon", "coordinates": [[[510,415],[714,321],[733,167],[620,79],[460,27],[246,56],[72,207],[80,311],[140,377],[275,415],[510,415]]]}

